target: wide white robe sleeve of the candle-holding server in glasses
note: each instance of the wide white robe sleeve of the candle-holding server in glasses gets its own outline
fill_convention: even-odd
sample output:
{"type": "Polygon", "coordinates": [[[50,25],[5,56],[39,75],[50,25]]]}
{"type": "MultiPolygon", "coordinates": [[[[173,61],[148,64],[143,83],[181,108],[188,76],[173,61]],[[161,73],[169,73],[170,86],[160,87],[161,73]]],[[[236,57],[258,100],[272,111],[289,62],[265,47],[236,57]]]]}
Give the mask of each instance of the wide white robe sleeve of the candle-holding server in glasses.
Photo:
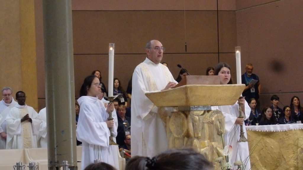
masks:
{"type": "MultiPolygon", "coordinates": [[[[102,122],[96,120],[97,114],[100,114],[98,108],[92,108],[92,105],[88,103],[81,105],[76,129],[77,139],[81,142],[108,147],[109,129],[104,120],[102,122]]],[[[101,118],[101,115],[99,116],[101,118]]]]}

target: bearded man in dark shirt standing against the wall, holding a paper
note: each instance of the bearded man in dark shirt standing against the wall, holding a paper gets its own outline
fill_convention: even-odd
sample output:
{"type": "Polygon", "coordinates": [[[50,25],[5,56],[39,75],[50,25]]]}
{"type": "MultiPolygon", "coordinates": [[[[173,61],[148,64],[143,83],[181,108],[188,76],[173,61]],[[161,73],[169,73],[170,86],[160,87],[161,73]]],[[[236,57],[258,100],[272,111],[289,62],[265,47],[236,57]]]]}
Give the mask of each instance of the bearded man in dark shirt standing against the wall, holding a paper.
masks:
{"type": "Polygon", "coordinates": [[[261,84],[259,81],[259,77],[256,74],[253,74],[252,71],[254,70],[254,67],[251,63],[248,63],[245,67],[246,72],[242,74],[242,84],[245,84],[245,89],[242,93],[242,96],[245,96],[245,100],[248,102],[249,99],[255,98],[257,100],[257,107],[260,106],[258,99],[259,94],[261,92],[261,84]],[[251,83],[251,80],[257,80],[257,82],[251,83]]]}

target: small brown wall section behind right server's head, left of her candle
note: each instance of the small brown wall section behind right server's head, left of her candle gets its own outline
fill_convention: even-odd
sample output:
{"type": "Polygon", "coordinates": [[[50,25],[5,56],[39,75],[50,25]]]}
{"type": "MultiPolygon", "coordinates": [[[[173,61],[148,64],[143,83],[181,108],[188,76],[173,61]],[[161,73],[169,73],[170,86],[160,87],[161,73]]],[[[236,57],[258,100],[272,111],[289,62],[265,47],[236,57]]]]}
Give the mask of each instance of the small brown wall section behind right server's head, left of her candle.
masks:
{"type": "Polygon", "coordinates": [[[237,84],[236,54],[219,54],[219,61],[220,63],[227,63],[230,66],[232,82],[237,84]]]}

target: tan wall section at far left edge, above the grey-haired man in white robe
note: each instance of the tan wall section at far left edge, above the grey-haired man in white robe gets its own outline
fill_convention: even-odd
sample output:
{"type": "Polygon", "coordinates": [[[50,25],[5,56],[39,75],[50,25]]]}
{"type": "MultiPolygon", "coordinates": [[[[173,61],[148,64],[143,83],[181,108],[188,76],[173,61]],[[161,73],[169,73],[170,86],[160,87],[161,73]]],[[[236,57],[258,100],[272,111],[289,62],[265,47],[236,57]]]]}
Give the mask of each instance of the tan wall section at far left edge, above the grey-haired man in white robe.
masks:
{"type": "Polygon", "coordinates": [[[18,1],[0,1],[0,88],[22,90],[20,18],[18,1]]]}

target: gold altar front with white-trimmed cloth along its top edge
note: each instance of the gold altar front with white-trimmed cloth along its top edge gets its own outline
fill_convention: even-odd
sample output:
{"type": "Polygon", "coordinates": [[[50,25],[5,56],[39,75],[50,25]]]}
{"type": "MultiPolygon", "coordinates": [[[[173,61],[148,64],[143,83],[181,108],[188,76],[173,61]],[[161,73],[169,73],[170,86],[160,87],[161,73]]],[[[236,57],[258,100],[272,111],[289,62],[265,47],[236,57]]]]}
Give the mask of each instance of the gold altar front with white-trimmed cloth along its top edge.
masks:
{"type": "Polygon", "coordinates": [[[246,126],[251,169],[303,169],[303,124],[246,126]]]}

